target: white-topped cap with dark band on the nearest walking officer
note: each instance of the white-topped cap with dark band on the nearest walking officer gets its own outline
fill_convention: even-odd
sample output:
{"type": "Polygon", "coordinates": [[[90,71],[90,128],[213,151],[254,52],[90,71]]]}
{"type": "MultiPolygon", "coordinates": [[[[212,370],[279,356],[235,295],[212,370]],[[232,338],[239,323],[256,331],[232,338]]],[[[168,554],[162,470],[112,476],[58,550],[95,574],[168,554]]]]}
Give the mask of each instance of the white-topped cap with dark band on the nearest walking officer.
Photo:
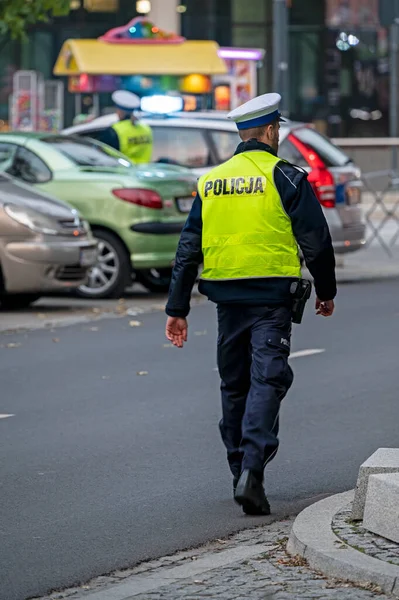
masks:
{"type": "Polygon", "coordinates": [[[268,125],[275,119],[284,121],[278,110],[280,94],[263,94],[232,110],[227,118],[235,122],[238,129],[251,129],[268,125]]]}

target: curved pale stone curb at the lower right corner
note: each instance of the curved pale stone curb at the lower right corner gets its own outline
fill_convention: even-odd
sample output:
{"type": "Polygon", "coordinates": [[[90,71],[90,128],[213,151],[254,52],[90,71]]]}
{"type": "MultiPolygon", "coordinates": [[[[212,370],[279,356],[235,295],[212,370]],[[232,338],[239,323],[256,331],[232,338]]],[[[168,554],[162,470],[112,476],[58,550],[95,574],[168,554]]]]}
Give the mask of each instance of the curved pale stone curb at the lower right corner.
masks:
{"type": "Polygon", "coordinates": [[[287,552],[302,556],[312,569],[329,577],[372,583],[399,598],[399,566],[354,550],[332,531],[334,516],[353,497],[353,491],[337,494],[302,511],[292,527],[287,552]]]}

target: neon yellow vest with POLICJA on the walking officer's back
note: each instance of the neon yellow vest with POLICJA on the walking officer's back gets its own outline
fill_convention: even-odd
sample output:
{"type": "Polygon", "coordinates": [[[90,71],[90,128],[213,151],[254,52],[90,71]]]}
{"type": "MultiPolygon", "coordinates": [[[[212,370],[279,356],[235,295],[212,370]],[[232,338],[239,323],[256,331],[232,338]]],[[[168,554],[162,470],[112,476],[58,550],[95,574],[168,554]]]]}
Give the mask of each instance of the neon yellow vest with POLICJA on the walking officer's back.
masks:
{"type": "Polygon", "coordinates": [[[202,279],[301,276],[291,220],[274,183],[280,160],[243,152],[200,178],[202,279]]]}

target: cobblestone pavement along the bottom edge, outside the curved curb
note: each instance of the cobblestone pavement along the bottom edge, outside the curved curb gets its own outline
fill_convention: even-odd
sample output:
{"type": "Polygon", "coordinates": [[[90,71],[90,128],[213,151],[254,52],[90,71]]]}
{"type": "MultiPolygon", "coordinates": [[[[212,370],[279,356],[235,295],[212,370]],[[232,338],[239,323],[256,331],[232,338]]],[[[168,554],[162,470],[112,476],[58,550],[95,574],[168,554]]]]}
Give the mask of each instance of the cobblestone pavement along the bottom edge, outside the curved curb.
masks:
{"type": "MultiPolygon", "coordinates": [[[[143,563],[40,600],[366,600],[391,598],[311,571],[285,545],[293,520],[143,563]],[[224,564],[223,564],[224,563],[224,564]]],[[[39,600],[39,599],[36,599],[39,600]]]]}

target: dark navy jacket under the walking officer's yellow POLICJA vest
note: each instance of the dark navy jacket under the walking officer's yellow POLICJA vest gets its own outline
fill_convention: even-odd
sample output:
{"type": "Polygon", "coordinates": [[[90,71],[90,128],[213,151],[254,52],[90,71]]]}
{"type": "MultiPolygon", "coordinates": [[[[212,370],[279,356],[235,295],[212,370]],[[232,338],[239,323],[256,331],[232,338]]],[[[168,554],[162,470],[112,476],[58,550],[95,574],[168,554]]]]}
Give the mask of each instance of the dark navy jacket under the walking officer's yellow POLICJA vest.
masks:
{"type": "MultiPolygon", "coordinates": [[[[236,154],[264,150],[275,154],[270,146],[255,139],[239,144],[236,154]]],[[[302,250],[320,300],[332,300],[337,293],[335,257],[326,219],[307,173],[286,162],[274,170],[274,182],[284,209],[291,219],[292,230],[302,250]]],[[[190,311],[190,296],[198,275],[202,257],[202,200],[197,194],[181,234],[173,268],[166,313],[171,317],[186,317],[190,311]]],[[[233,281],[201,280],[199,291],[217,304],[255,306],[290,305],[289,277],[240,279],[233,281]]]]}

